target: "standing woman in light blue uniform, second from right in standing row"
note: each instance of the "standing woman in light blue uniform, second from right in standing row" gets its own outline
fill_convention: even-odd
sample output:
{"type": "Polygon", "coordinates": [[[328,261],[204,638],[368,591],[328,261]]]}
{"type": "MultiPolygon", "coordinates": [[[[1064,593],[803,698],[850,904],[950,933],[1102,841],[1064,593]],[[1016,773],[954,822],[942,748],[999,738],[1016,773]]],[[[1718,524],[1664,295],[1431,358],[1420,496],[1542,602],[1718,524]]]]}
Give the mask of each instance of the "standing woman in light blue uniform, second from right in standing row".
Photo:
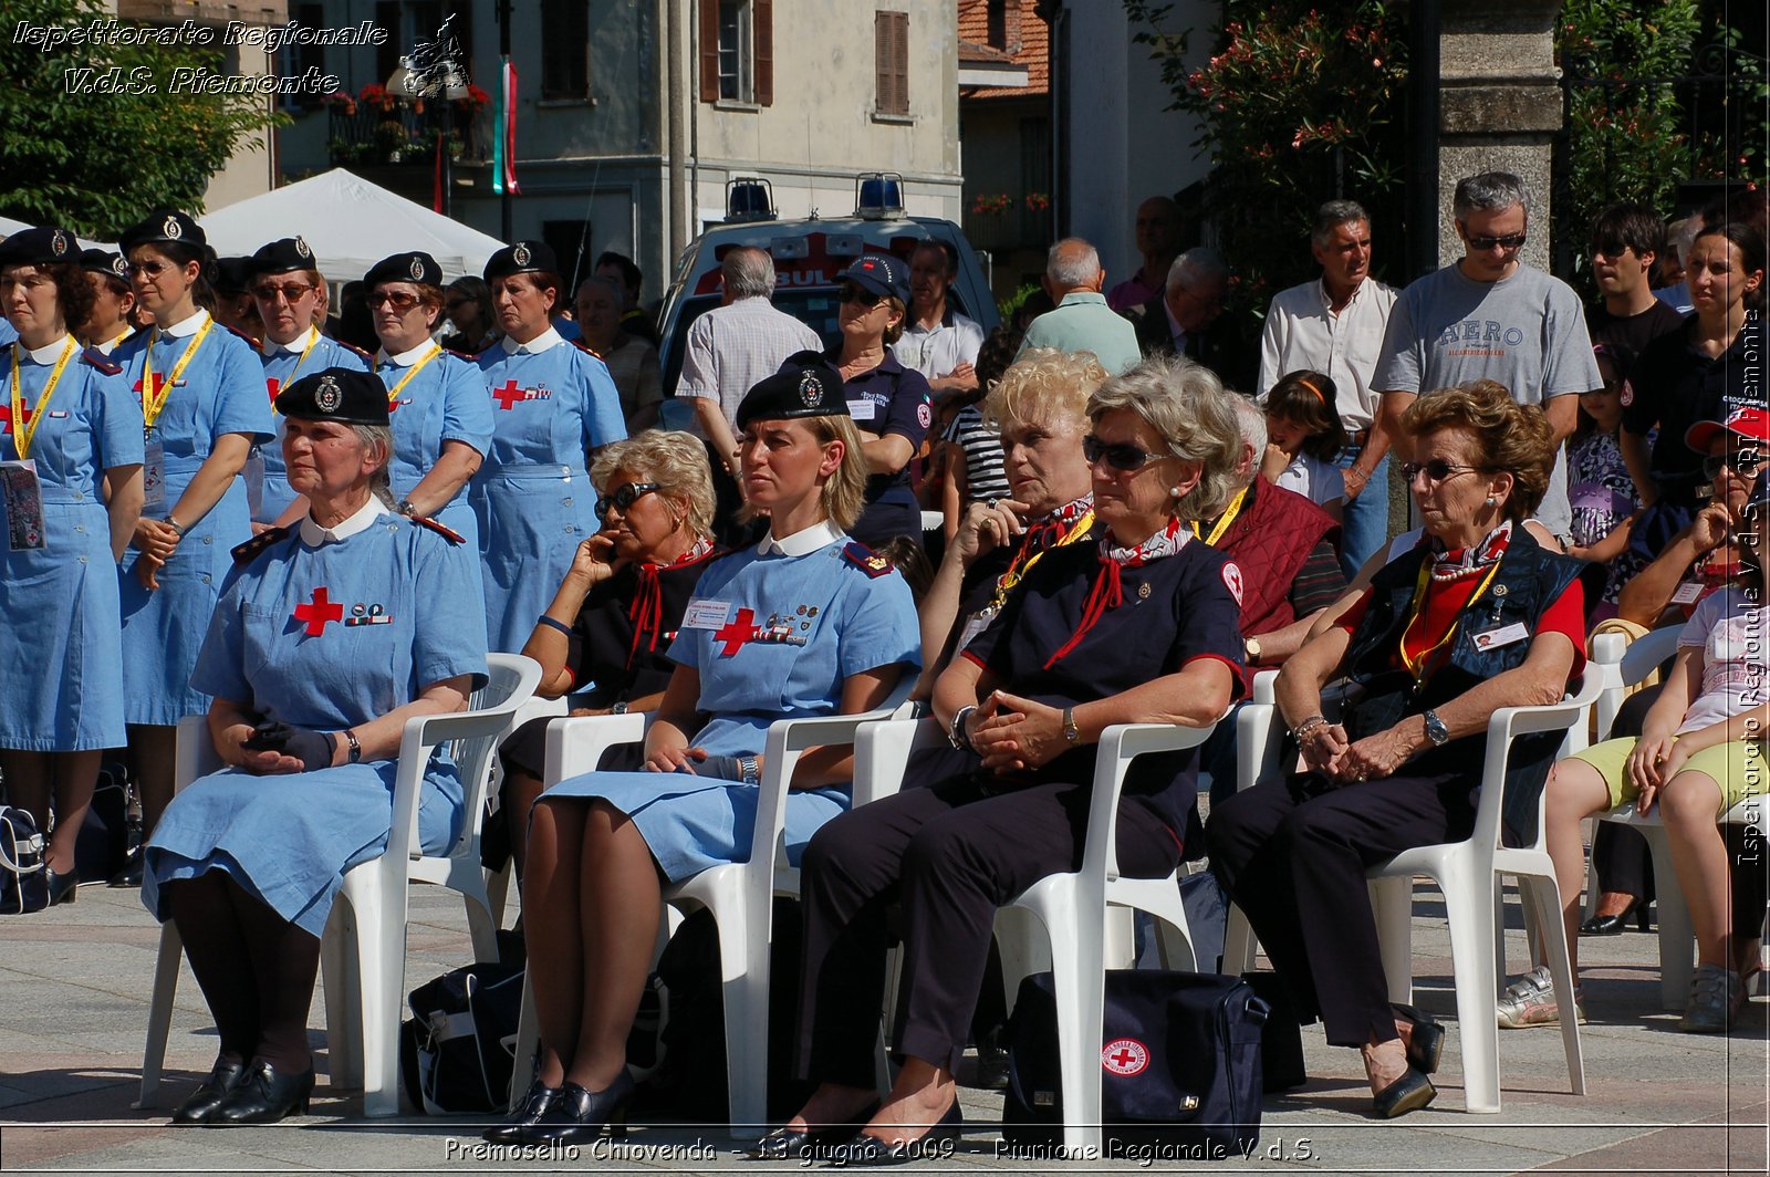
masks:
{"type": "MultiPolygon", "coordinates": [[[[428,253],[395,253],[363,278],[381,336],[375,375],[393,414],[393,494],[404,515],[435,519],[480,550],[467,480],[492,448],[492,402],[473,359],[430,340],[442,317],[442,267],[428,253]]],[[[473,605],[485,612],[476,589],[473,605]]]]}

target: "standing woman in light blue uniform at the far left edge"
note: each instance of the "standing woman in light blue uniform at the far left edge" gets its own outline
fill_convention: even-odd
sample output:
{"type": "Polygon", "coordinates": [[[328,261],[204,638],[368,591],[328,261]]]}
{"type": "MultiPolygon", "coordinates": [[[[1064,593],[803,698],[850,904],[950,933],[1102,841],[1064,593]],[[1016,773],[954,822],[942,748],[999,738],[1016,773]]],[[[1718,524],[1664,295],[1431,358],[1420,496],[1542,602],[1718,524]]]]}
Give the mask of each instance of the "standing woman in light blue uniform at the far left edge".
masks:
{"type": "Polygon", "coordinates": [[[142,412],[117,365],[67,333],[92,308],[78,258],[65,228],[0,244],[0,308],[19,333],[0,345],[0,460],[32,462],[41,499],[35,519],[28,494],[0,499],[0,772],[39,830],[55,796],[51,904],[74,899],[99,754],[124,742],[115,565],[142,513],[142,412]]]}

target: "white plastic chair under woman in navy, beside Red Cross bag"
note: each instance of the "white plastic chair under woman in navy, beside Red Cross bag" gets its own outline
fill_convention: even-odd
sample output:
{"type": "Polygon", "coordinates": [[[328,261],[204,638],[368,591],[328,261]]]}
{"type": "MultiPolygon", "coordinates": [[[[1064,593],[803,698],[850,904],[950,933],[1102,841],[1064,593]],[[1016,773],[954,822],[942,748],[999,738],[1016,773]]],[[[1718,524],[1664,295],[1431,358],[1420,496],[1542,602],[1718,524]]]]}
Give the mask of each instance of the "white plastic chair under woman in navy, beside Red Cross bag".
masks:
{"type": "MultiPolygon", "coordinates": [[[[1099,1156],[1101,1149],[1099,1051],[1106,1002],[1108,908],[1135,908],[1158,917],[1166,924],[1159,940],[1163,966],[1189,972],[1195,965],[1179,871],[1166,878],[1119,874],[1119,793],[1124,775],[1136,756],[1198,747],[1212,727],[1115,724],[1103,731],[1094,763],[1081,869],[1048,874],[1004,908],[1035,915],[1050,940],[1064,1147],[1094,1149],[1092,1154],[1078,1156],[1099,1156]]],[[[943,736],[933,720],[894,720],[862,729],[855,740],[855,804],[896,793],[910,752],[929,747],[936,738],[943,736]]],[[[998,924],[998,936],[1004,931],[998,924]]],[[[1027,952],[1016,954],[1011,942],[1004,942],[1004,973],[1009,973],[1011,956],[1025,959],[1027,952]]]]}

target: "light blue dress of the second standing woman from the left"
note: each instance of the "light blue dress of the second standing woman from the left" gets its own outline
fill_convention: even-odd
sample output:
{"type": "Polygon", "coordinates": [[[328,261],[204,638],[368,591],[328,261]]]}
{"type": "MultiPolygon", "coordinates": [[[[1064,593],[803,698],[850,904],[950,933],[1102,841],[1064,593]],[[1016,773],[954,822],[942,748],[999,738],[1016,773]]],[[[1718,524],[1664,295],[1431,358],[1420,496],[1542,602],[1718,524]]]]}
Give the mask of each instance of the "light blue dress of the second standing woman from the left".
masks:
{"type": "MultiPolygon", "coordinates": [[[[142,366],[152,331],[136,331],[112,359],[122,366],[124,382],[142,398],[142,366]]],[[[154,381],[172,375],[193,336],[159,335],[154,347],[154,381]]],[[[264,396],[264,366],[246,336],[219,324],[209,331],[186,366],[181,382],[166,396],[165,409],[147,430],[149,458],[158,446],[163,460],[161,501],[142,513],[165,519],[179,504],[184,488],[202,467],[214,442],[225,434],[248,434],[253,442],[271,439],[271,407],[264,396]]],[[[149,460],[147,478],[156,471],[149,460]]],[[[140,552],[124,552],[119,575],[122,586],[122,685],[124,719],[131,724],[177,724],[186,715],[202,715],[209,699],[191,689],[191,669],[209,614],[221,593],[221,579],[230,566],[228,550],[251,538],[251,513],[246,483],[235,478],[214,508],[198,520],[181,519],[189,527],[179,549],[159,570],[159,589],[149,593],[135,575],[140,552]]]]}

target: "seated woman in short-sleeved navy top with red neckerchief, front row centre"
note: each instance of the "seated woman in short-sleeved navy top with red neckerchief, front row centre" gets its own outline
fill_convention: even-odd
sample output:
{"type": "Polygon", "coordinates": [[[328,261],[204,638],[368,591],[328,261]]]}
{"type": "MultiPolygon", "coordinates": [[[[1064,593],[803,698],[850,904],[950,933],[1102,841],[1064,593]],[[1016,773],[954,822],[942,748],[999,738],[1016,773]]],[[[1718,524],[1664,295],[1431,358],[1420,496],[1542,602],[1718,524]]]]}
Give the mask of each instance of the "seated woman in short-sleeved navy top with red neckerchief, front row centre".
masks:
{"type": "MultiPolygon", "coordinates": [[[[954,1067],[995,912],[1074,869],[1101,731],[1204,726],[1235,701],[1239,572],[1188,526],[1235,488],[1239,432],[1221,386],[1189,359],[1152,358],[1101,384],[1087,416],[1099,538],[1046,549],[935,683],[935,717],[966,765],[835,818],[805,851],[800,1067],[820,1087],[763,1140],[766,1154],[796,1156],[867,1117],[896,904],[904,993],[890,1041],[903,1067],[844,1154],[889,1159],[956,1135],[954,1067]]],[[[1195,773],[1193,750],[1131,768],[1124,874],[1174,871],[1195,773]]]]}

